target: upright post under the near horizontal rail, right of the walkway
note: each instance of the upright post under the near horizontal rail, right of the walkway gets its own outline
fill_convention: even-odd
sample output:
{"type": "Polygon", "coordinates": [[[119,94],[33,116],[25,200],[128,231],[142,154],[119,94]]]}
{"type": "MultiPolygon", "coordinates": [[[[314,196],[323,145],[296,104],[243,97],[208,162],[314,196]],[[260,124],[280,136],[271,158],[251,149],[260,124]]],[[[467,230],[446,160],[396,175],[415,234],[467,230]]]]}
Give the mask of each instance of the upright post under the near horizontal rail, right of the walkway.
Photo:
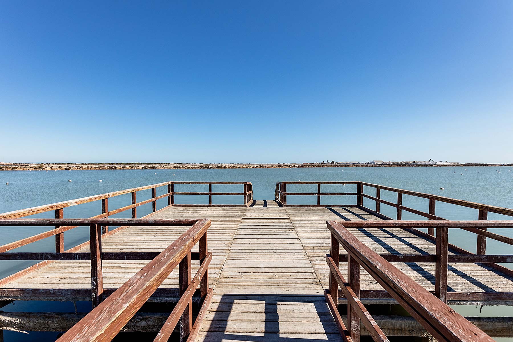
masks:
{"type": "Polygon", "coordinates": [[[448,234],[447,226],[437,227],[437,260],[435,264],[435,295],[447,303],[447,254],[448,234]]]}

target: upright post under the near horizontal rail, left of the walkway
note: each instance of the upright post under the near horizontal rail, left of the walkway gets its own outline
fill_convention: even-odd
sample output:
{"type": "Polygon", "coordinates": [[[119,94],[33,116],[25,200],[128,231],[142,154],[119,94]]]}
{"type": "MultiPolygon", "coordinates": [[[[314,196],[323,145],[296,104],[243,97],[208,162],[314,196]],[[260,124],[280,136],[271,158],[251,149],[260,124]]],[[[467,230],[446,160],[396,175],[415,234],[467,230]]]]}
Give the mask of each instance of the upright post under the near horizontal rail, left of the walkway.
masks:
{"type": "Polygon", "coordinates": [[[102,301],[102,231],[97,224],[89,225],[91,249],[91,301],[93,309],[102,301]]]}

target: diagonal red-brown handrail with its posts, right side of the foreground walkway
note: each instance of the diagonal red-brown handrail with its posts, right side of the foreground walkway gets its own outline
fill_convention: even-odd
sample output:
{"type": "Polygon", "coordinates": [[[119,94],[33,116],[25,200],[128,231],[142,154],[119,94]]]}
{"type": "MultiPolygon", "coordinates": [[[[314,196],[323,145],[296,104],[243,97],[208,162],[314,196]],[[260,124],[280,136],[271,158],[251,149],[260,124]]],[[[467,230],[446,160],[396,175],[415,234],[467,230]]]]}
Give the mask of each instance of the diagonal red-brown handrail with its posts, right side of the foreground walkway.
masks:
{"type": "MultiPolygon", "coordinates": [[[[331,232],[331,250],[330,254],[326,255],[330,276],[329,290],[325,290],[326,301],[343,339],[359,341],[360,321],[362,321],[374,341],[388,341],[360,301],[360,266],[362,266],[438,341],[493,341],[491,337],[456,313],[442,300],[433,296],[389,261],[365,246],[344,225],[336,221],[327,222],[327,227],[331,232]],[[347,281],[339,270],[341,245],[348,254],[347,281]],[[339,286],[347,298],[347,328],[337,309],[339,286]]],[[[448,227],[448,223],[445,223],[445,227],[448,227]]],[[[442,226],[440,225],[438,228],[437,231],[442,226]]],[[[445,239],[445,246],[447,246],[446,241],[445,239]]],[[[442,251],[443,248],[437,245],[438,259],[443,258],[442,251]]],[[[445,255],[447,255],[446,252],[445,255]]],[[[438,268],[439,266],[437,273],[440,272],[438,268]]],[[[437,279],[438,277],[437,274],[437,279]]]]}

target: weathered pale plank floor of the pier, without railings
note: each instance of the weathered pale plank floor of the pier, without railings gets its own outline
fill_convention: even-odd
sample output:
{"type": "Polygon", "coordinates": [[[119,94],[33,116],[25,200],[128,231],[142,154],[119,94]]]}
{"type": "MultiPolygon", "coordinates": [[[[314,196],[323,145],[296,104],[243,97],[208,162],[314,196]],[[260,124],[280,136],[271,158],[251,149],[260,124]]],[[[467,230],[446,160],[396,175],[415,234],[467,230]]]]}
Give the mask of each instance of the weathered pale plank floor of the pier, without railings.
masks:
{"type": "MultiPolygon", "coordinates": [[[[215,288],[198,341],[341,340],[324,298],[324,289],[328,288],[325,255],[330,248],[326,220],[379,219],[353,207],[284,208],[272,200],[258,200],[248,208],[171,207],[153,218],[212,220],[208,230],[208,247],[212,251],[209,281],[215,288]]],[[[102,249],[162,251],[186,229],[129,227],[104,237],[102,249]]],[[[402,229],[351,231],[378,253],[435,254],[435,244],[430,240],[402,229]]],[[[147,263],[103,261],[104,287],[119,288],[147,263]]],[[[435,289],[435,264],[393,264],[429,291],[435,289]]],[[[192,268],[194,273],[197,260],[193,260],[192,268]]],[[[341,263],[340,268],[345,270],[346,266],[341,263]]],[[[383,290],[363,270],[361,277],[362,290],[383,290]]],[[[176,288],[177,284],[178,273],[173,271],[161,288],[176,288]]],[[[1,287],[90,289],[90,261],[53,261],[1,287]]],[[[462,292],[513,292],[513,281],[486,266],[451,263],[448,288],[462,292]]],[[[378,299],[372,300],[379,303],[378,299]]],[[[475,301],[467,304],[472,303],[475,301]]]]}

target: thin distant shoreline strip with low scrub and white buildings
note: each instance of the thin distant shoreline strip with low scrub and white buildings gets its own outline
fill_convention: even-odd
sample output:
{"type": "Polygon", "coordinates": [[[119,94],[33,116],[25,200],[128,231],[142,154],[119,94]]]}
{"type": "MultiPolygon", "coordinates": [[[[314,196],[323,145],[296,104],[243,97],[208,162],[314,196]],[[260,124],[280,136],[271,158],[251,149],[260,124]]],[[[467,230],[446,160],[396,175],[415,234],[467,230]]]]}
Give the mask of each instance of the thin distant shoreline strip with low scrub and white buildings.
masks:
{"type": "Polygon", "coordinates": [[[331,163],[284,163],[284,164],[192,164],[192,163],[0,163],[0,171],[49,171],[49,170],[177,170],[177,169],[285,169],[317,167],[469,167],[469,166],[513,166],[509,164],[466,163],[455,165],[416,164],[331,164],[331,163]]]}

